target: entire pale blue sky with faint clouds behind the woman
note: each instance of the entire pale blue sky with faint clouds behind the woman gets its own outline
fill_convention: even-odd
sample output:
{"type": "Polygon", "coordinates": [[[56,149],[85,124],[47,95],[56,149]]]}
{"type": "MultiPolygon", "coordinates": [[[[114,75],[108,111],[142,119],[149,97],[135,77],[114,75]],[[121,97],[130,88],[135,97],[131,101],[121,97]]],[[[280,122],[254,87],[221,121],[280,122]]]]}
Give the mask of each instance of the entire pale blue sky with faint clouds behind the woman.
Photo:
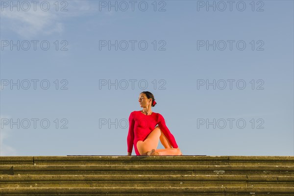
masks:
{"type": "Polygon", "coordinates": [[[294,156],[292,0],[11,2],[1,156],[126,155],[142,91],[184,155],[294,156]]]}

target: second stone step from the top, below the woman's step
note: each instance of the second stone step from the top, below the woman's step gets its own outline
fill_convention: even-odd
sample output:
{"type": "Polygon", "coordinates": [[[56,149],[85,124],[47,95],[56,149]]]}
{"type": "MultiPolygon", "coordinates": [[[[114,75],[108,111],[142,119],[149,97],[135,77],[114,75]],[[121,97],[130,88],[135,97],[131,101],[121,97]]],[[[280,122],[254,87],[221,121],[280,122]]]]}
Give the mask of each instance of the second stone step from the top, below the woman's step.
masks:
{"type": "Polygon", "coordinates": [[[294,176],[294,166],[225,166],[225,165],[36,165],[0,166],[2,175],[129,175],[129,174],[186,174],[186,175],[288,175],[294,176]]]}

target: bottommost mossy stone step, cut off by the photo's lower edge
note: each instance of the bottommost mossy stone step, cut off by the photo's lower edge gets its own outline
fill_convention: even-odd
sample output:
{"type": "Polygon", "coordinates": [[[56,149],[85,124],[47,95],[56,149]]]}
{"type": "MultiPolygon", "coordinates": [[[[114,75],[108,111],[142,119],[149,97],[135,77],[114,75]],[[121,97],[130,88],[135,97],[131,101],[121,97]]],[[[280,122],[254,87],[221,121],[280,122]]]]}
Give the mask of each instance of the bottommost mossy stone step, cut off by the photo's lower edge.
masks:
{"type": "Polygon", "coordinates": [[[3,195],[12,194],[247,194],[247,195],[257,195],[257,194],[267,194],[267,195],[277,195],[277,194],[290,194],[294,193],[294,188],[251,188],[251,187],[186,187],[186,188],[170,188],[170,187],[157,187],[155,188],[125,188],[125,187],[113,187],[113,188],[10,188],[4,189],[1,192],[3,195]]]}

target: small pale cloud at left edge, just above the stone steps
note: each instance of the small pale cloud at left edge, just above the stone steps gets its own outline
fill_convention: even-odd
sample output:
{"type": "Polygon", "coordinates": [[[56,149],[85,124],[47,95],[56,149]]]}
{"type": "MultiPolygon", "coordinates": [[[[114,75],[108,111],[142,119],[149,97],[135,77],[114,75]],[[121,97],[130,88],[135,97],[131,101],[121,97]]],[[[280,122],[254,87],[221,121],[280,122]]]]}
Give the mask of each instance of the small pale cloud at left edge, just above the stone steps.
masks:
{"type": "MultiPolygon", "coordinates": [[[[0,119],[10,119],[10,116],[0,115],[0,119]]],[[[3,126],[0,127],[0,156],[17,156],[17,151],[11,146],[5,144],[5,139],[9,138],[11,129],[3,126]]]]}

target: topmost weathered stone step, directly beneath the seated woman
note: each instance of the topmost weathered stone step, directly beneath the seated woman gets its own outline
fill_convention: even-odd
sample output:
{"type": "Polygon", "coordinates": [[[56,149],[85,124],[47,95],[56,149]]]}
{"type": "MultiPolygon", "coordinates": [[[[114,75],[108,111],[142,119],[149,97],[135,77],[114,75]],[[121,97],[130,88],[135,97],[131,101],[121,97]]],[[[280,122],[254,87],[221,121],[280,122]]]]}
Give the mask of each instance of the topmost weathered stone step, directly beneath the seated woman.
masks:
{"type": "Polygon", "coordinates": [[[0,165],[294,166],[294,156],[2,156],[0,165]]]}

